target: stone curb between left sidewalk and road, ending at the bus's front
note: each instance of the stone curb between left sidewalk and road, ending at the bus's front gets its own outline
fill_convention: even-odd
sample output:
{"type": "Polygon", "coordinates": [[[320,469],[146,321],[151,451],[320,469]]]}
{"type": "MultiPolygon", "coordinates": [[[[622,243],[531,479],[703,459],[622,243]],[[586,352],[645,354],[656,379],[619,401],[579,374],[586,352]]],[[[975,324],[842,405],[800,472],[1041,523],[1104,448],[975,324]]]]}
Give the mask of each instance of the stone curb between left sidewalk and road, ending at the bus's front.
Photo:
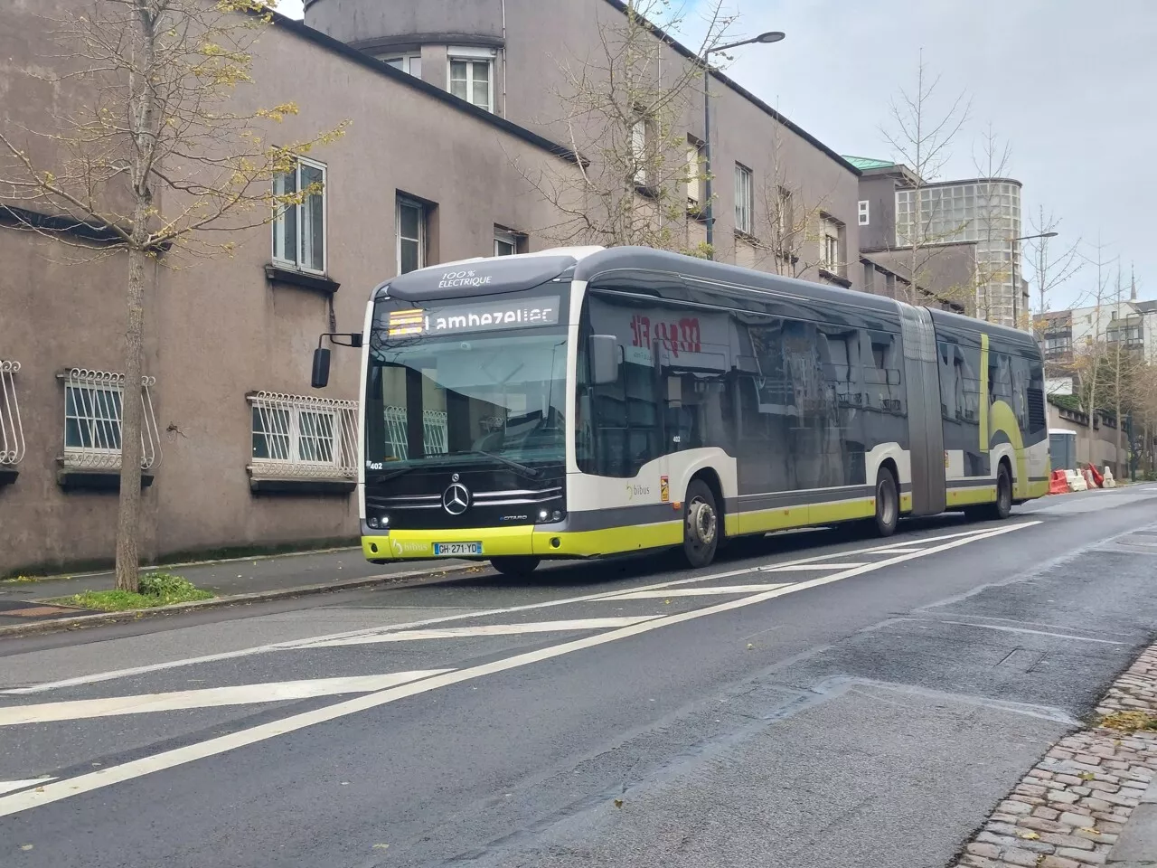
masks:
{"type": "Polygon", "coordinates": [[[123,612],[98,612],[96,615],[76,615],[69,618],[50,618],[46,620],[31,621],[29,624],[14,624],[9,627],[0,627],[0,639],[36,635],[39,633],[56,633],[67,630],[83,630],[84,627],[96,627],[105,624],[123,624],[126,621],[155,618],[164,615],[182,615],[192,611],[244,605],[246,603],[265,603],[277,599],[290,599],[293,597],[308,597],[318,594],[371,588],[378,584],[398,584],[401,587],[410,587],[413,584],[421,584],[430,579],[469,573],[478,568],[479,565],[477,564],[464,564],[457,567],[443,567],[440,569],[414,569],[405,573],[370,575],[364,579],[351,579],[344,582],[302,584],[295,588],[253,591],[252,594],[231,594],[229,596],[214,597],[213,599],[198,599],[191,603],[172,603],[171,605],[161,605],[155,609],[130,609],[123,612]]]}

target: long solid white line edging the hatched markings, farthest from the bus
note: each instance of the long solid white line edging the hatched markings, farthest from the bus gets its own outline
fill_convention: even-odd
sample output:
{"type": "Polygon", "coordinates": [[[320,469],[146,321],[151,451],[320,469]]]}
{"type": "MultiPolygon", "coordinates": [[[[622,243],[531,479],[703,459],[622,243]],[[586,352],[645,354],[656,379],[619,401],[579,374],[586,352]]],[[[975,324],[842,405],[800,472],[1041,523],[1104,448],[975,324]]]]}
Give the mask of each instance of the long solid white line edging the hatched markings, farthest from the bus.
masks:
{"type": "Polygon", "coordinates": [[[833,573],[831,575],[810,579],[795,584],[787,584],[781,588],[775,588],[774,590],[764,591],[762,594],[754,594],[750,597],[740,597],[739,599],[716,603],[715,605],[706,606],[703,609],[694,609],[688,612],[676,612],[675,615],[655,618],[654,620],[643,621],[642,624],[634,624],[629,627],[620,627],[619,630],[612,630],[605,633],[584,637],[582,639],[574,639],[550,648],[539,648],[532,652],[526,652],[525,654],[516,654],[511,657],[507,657],[506,660],[496,660],[494,662],[471,667],[469,669],[435,675],[420,682],[412,682],[410,684],[390,687],[389,690],[383,690],[377,693],[370,693],[355,699],[347,699],[346,701],[336,703],[326,706],[325,708],[317,708],[302,714],[292,715],[285,720],[251,727],[250,729],[245,729],[239,733],[230,733],[228,735],[218,736],[216,738],[209,738],[208,741],[200,742],[199,744],[176,748],[152,757],[142,757],[128,763],[123,763],[118,766],[88,772],[86,774],[78,775],[76,778],[53,781],[52,784],[37,788],[37,790],[42,792],[31,790],[0,796],[0,817],[19,814],[20,811],[25,811],[43,804],[58,802],[62,799],[81,795],[82,793],[91,793],[93,790],[101,789],[113,784],[120,784],[146,774],[153,774],[155,772],[174,768],[176,766],[184,765],[185,763],[192,763],[197,759],[218,756],[227,751],[263,742],[267,738],[285,735],[286,733],[293,733],[317,723],[325,723],[327,721],[364,712],[370,708],[377,708],[389,703],[396,703],[399,699],[406,699],[419,693],[437,690],[439,687],[445,687],[451,684],[460,684],[463,682],[473,681],[476,678],[494,675],[496,672],[504,672],[510,669],[517,669],[532,663],[540,663],[546,660],[560,657],[565,654],[572,654],[587,648],[595,648],[600,645],[616,642],[620,639],[627,639],[629,637],[636,637],[650,631],[661,630],[672,624],[683,624],[685,621],[706,618],[710,615],[756,605],[758,603],[767,602],[768,599],[774,599],[788,594],[797,594],[802,590],[818,588],[825,584],[842,581],[845,579],[852,579],[856,575],[863,575],[864,573],[870,573],[896,564],[913,560],[915,558],[922,558],[928,554],[937,554],[961,545],[967,545],[968,543],[989,539],[992,537],[1011,534],[1017,530],[1024,530],[1025,528],[1031,528],[1036,524],[1040,524],[1040,522],[1025,522],[1023,524],[1014,524],[1005,528],[998,528],[996,530],[972,534],[964,538],[952,539],[943,545],[924,549],[912,554],[898,554],[894,558],[880,560],[875,564],[867,564],[862,567],[856,567],[855,569],[846,569],[842,573],[833,573]]]}

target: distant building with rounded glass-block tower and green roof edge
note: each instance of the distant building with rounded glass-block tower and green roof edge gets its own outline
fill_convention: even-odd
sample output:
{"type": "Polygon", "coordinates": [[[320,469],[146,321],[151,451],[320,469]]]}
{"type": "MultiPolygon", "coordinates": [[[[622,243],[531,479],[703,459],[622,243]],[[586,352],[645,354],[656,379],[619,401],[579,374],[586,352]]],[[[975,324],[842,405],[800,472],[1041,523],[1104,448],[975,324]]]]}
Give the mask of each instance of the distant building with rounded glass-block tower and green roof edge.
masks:
{"type": "Polygon", "coordinates": [[[1002,325],[1029,326],[1020,182],[972,178],[929,183],[906,165],[847,159],[862,172],[857,206],[862,252],[914,262],[938,293],[972,295],[971,284],[975,316],[1002,325]]]}

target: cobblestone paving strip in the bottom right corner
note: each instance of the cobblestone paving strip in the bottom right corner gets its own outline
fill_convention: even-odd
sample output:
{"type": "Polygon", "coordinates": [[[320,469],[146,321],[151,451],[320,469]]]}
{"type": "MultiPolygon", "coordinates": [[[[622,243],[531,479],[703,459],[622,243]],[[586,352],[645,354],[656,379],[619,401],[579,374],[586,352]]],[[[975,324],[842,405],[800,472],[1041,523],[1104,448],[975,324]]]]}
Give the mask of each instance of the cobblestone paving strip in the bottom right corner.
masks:
{"type": "Polygon", "coordinates": [[[1157,777],[1157,645],[1110,687],[1103,724],[1057,743],[1002,801],[953,862],[959,868],[1105,865],[1125,823],[1157,777]]]}

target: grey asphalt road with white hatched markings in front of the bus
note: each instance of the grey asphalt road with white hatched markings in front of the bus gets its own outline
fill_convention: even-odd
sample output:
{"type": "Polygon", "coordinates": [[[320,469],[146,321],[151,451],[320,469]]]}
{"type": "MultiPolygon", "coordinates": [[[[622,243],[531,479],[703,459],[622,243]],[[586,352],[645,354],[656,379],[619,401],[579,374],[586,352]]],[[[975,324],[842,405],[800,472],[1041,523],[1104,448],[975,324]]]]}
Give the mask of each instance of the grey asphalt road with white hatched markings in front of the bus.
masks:
{"type": "Polygon", "coordinates": [[[943,866],[1155,584],[1150,485],[9,639],[0,865],[943,866]]]}

